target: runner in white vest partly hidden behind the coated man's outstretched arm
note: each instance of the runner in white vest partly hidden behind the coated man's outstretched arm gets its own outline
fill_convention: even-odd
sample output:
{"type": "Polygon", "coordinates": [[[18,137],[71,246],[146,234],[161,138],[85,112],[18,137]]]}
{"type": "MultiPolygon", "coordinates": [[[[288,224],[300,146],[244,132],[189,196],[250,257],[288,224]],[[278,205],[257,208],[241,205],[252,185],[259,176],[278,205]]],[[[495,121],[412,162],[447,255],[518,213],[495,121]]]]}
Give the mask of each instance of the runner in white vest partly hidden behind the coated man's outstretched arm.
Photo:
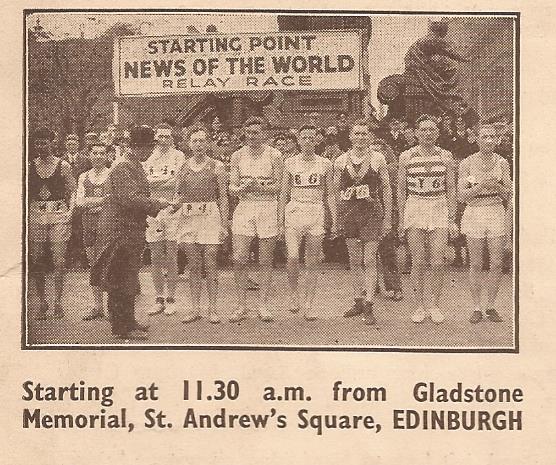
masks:
{"type": "MultiPolygon", "coordinates": [[[[172,200],[176,174],[185,156],[174,148],[172,127],[159,124],[155,128],[158,142],[149,159],[143,163],[153,198],[172,200]]],[[[147,218],[147,242],[151,251],[151,274],[156,292],[155,306],[147,313],[176,313],[175,293],[178,280],[178,244],[176,228],[179,216],[171,209],[162,210],[156,218],[147,218]],[[166,272],[166,276],[165,276],[166,272]],[[166,298],[164,286],[166,285],[166,298]]]]}

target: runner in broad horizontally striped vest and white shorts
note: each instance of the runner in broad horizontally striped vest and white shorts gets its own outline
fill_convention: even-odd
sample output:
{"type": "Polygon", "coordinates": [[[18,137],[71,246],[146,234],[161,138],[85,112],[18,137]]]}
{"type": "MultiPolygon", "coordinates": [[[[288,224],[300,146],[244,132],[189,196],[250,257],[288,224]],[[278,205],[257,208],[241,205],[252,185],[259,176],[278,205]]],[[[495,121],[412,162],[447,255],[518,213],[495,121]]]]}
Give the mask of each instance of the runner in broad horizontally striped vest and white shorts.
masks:
{"type": "Polygon", "coordinates": [[[428,115],[417,119],[415,135],[419,144],[400,155],[398,171],[399,234],[407,233],[411,251],[411,281],[416,309],[411,319],[422,323],[430,315],[442,323],[440,310],[444,254],[448,236],[457,235],[455,166],[452,154],[437,147],[439,130],[428,115]],[[424,280],[426,253],[430,250],[432,308],[425,309],[424,280]]]}

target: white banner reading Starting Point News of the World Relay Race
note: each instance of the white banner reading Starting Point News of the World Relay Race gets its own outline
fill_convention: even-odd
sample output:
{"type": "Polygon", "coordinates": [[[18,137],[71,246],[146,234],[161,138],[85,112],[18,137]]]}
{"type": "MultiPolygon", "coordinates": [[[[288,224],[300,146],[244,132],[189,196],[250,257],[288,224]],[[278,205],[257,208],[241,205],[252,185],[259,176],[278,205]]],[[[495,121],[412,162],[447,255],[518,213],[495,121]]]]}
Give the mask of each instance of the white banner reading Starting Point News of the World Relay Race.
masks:
{"type": "Polygon", "coordinates": [[[362,88],[360,31],[118,37],[117,96],[362,88]]]}

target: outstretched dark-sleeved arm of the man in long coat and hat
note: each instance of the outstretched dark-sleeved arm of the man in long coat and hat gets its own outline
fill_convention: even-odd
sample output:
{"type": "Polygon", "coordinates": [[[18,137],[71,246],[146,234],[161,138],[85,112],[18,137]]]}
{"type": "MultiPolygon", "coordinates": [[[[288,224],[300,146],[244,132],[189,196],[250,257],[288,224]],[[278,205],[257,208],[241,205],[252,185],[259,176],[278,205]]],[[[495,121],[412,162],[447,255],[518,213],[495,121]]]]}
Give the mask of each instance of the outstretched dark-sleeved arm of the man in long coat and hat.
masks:
{"type": "Polygon", "coordinates": [[[114,166],[109,179],[110,199],[123,207],[156,216],[160,210],[169,205],[169,202],[151,199],[139,190],[128,163],[118,163],[114,166]]]}

